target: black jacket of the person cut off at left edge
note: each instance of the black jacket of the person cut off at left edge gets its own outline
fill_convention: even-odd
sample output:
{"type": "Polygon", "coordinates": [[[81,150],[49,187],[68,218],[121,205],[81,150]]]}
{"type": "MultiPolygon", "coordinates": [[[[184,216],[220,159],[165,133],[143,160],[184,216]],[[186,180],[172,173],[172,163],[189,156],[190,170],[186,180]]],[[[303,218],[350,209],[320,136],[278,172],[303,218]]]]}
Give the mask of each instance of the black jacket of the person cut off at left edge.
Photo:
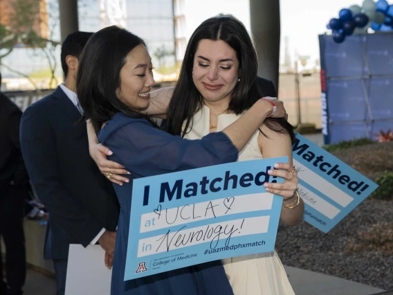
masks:
{"type": "Polygon", "coordinates": [[[19,107],[0,92],[0,195],[10,181],[17,185],[28,181],[19,142],[21,116],[19,107]]]}

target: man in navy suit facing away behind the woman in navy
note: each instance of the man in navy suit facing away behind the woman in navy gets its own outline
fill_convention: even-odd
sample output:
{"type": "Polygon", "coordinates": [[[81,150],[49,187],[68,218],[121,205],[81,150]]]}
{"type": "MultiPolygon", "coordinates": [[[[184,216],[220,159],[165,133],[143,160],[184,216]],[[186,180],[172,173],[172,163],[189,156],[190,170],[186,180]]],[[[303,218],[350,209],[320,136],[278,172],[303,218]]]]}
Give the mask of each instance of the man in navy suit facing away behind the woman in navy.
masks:
{"type": "Polygon", "coordinates": [[[113,255],[116,240],[118,199],[89,155],[86,123],[77,123],[78,57],[91,35],[75,32],[64,39],[65,83],[28,107],[21,120],[26,167],[49,213],[44,258],[54,262],[57,295],[64,294],[69,244],[98,242],[113,255]]]}

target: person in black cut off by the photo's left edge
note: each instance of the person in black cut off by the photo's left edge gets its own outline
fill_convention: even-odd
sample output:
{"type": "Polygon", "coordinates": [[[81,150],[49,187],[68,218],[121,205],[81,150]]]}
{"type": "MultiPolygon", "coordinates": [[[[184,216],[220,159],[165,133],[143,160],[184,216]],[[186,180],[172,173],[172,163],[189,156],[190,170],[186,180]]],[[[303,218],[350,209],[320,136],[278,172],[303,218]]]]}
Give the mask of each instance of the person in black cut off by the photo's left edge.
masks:
{"type": "MultiPolygon", "coordinates": [[[[1,73],[0,73],[1,86],[1,73]]],[[[24,202],[28,174],[21,155],[19,123],[22,112],[0,92],[0,236],[6,245],[6,277],[0,257],[0,294],[22,294],[26,278],[24,202]]]]}

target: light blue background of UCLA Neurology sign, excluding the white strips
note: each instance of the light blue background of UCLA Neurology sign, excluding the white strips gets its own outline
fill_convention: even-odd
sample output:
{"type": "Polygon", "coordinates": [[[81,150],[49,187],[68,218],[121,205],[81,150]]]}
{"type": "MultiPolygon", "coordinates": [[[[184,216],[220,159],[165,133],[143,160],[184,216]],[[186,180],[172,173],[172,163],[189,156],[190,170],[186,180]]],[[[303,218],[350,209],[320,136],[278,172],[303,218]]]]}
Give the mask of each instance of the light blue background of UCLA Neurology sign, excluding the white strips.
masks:
{"type": "MultiPolygon", "coordinates": [[[[125,267],[125,280],[141,278],[143,276],[150,276],[152,274],[158,274],[164,271],[170,271],[172,269],[179,269],[181,267],[188,267],[190,265],[201,264],[203,262],[208,262],[212,260],[274,251],[275,238],[277,235],[277,227],[280,220],[283,199],[282,197],[277,195],[273,195],[273,204],[271,210],[223,215],[216,218],[210,218],[208,220],[198,220],[190,222],[187,224],[188,229],[192,229],[197,226],[205,226],[208,224],[215,224],[229,220],[239,220],[242,218],[270,215],[267,233],[242,235],[239,237],[230,238],[230,243],[228,244],[228,247],[232,246],[232,248],[234,248],[235,245],[237,245],[237,249],[225,248],[223,251],[205,254],[205,251],[209,250],[210,248],[210,242],[204,242],[202,244],[195,244],[193,246],[183,247],[179,249],[171,249],[170,251],[137,258],[138,242],[140,239],[149,238],[156,235],[163,235],[168,231],[168,229],[171,229],[171,232],[177,231],[181,229],[182,226],[184,226],[184,224],[182,224],[165,229],[157,229],[154,231],[140,233],[141,215],[143,215],[144,213],[152,213],[159,204],[162,205],[162,210],[165,210],[170,208],[176,208],[178,206],[185,206],[187,204],[208,202],[210,200],[222,199],[226,197],[237,197],[239,195],[249,195],[255,193],[266,193],[264,186],[257,186],[254,181],[250,181],[250,183],[252,184],[251,186],[239,186],[239,179],[241,175],[244,175],[244,173],[246,172],[251,173],[252,175],[256,175],[258,172],[266,172],[268,170],[268,167],[273,169],[273,165],[275,163],[281,162],[288,162],[288,158],[282,157],[275,159],[241,161],[182,172],[174,172],[166,175],[157,175],[154,177],[135,179],[132,193],[133,197],[131,200],[131,217],[125,267]],[[229,187],[228,190],[221,189],[217,193],[208,193],[205,195],[201,194],[199,188],[198,195],[194,197],[185,198],[182,196],[180,199],[176,199],[176,195],[174,195],[171,201],[165,199],[165,202],[159,202],[161,184],[163,182],[168,182],[170,188],[172,188],[175,182],[179,179],[183,179],[183,184],[188,184],[190,182],[199,183],[202,177],[208,177],[208,179],[212,180],[216,177],[222,177],[223,175],[225,175],[226,171],[230,171],[230,175],[238,176],[237,188],[229,187]],[[148,204],[143,206],[143,202],[145,200],[145,186],[149,186],[149,199],[148,204]],[[239,244],[241,244],[241,247],[239,246],[239,244]],[[243,245],[245,245],[246,247],[243,247],[243,245]],[[171,257],[170,262],[167,262],[165,265],[154,266],[154,262],[161,261],[159,259],[165,258],[167,256],[171,257]],[[179,259],[178,257],[183,257],[184,259],[179,259]],[[172,261],[173,259],[174,261],[172,261]],[[147,270],[136,273],[136,269],[138,269],[138,265],[141,262],[145,262],[147,270]]],[[[273,180],[277,181],[277,183],[284,182],[284,179],[282,178],[271,176],[269,177],[268,182],[272,182],[273,180]]],[[[232,184],[232,181],[230,183],[232,184]]],[[[226,239],[220,240],[216,249],[221,249],[225,247],[225,241],[226,239]]]]}

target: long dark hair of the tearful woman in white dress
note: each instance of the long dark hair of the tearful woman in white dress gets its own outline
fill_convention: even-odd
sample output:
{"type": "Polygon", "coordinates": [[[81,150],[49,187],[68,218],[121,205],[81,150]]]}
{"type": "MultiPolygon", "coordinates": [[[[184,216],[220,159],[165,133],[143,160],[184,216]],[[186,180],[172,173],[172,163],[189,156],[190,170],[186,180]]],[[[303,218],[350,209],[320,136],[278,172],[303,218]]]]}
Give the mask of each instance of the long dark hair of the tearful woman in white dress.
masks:
{"type": "MultiPolygon", "coordinates": [[[[184,136],[192,127],[192,117],[203,106],[203,98],[192,80],[194,55],[202,39],[226,42],[235,50],[239,60],[240,81],[232,91],[228,111],[241,114],[266,96],[257,84],[257,53],[244,25],[231,15],[212,17],[203,21],[188,42],[179,81],[167,112],[167,130],[171,134],[180,135],[185,120],[184,136]]],[[[292,141],[295,138],[293,126],[284,118],[266,118],[264,124],[275,132],[288,133],[292,141]]]]}

